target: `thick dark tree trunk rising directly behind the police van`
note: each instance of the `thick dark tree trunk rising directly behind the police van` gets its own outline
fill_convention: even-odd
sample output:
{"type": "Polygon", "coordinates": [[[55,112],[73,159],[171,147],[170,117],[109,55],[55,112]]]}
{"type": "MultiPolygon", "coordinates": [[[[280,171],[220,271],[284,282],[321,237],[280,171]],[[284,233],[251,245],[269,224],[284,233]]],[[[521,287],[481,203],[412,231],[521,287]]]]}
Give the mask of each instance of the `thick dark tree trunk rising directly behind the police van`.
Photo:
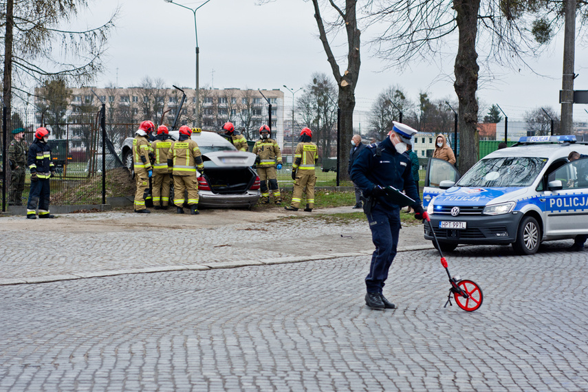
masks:
{"type": "MultiPolygon", "coordinates": [[[[454,0],[457,12],[459,45],[455,57],[455,93],[459,100],[459,172],[466,173],[478,161],[478,89],[476,52],[477,21],[480,0],[454,0]]],[[[454,151],[457,154],[457,151],[454,151]]]]}

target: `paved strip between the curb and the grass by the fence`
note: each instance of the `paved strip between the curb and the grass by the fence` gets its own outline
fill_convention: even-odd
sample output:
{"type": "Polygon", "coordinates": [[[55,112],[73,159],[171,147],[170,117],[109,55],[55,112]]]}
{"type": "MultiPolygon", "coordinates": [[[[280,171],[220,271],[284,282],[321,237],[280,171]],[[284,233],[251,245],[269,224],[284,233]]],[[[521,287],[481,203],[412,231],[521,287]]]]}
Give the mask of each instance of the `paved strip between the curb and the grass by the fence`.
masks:
{"type": "MultiPolygon", "coordinates": [[[[353,210],[323,211],[324,215],[353,210]]],[[[304,220],[317,215],[276,208],[266,213],[204,210],[197,217],[124,212],[64,214],[43,221],[4,217],[0,220],[0,285],[132,272],[208,270],[373,252],[366,221],[327,224],[319,219],[309,224],[304,220]],[[280,219],[290,215],[301,219],[280,219]]],[[[420,224],[406,227],[400,248],[431,248],[422,237],[420,224]]]]}

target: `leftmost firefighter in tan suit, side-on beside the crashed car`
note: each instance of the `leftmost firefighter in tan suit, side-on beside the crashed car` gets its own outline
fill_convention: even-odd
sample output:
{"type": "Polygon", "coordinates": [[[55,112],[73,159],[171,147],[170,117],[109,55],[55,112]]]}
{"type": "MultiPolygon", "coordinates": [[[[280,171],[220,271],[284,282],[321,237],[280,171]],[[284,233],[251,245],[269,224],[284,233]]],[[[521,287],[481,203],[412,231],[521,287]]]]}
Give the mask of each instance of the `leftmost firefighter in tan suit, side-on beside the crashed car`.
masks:
{"type": "Polygon", "coordinates": [[[155,124],[145,120],[139,125],[133,139],[133,166],[135,168],[135,213],[149,214],[151,211],[145,208],[145,199],[149,195],[149,179],[153,175],[151,166],[151,144],[149,144],[149,133],[155,129],[155,124]]]}

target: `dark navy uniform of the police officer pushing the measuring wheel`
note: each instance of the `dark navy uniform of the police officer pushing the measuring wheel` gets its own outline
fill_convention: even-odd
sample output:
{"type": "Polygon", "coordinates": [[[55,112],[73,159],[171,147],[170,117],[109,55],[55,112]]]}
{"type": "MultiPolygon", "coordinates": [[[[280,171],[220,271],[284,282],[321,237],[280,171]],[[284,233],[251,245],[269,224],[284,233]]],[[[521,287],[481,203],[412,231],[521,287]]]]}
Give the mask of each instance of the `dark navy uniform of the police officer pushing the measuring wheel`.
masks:
{"type": "MultiPolygon", "coordinates": [[[[369,197],[375,186],[393,186],[404,189],[420,207],[420,198],[412,176],[411,160],[398,153],[390,138],[364,149],[351,168],[351,180],[357,184],[365,197],[369,197]]],[[[371,257],[369,274],[365,278],[368,293],[382,294],[388,270],[396,255],[400,232],[400,207],[383,197],[367,215],[375,251],[371,257]]]]}

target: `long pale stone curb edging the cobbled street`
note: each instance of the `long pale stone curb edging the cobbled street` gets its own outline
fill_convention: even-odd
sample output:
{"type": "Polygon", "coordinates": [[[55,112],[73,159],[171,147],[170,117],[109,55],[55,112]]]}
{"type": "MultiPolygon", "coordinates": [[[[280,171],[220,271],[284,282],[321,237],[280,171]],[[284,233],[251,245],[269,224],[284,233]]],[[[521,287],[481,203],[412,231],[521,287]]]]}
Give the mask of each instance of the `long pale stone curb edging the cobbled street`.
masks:
{"type": "MultiPolygon", "coordinates": [[[[415,250],[433,249],[431,245],[404,246],[398,248],[397,252],[411,252],[415,250]]],[[[207,271],[221,270],[227,268],[249,267],[251,265],[274,265],[274,264],[291,264],[303,263],[305,261],[338,259],[339,257],[367,256],[372,254],[372,250],[346,253],[327,253],[315,254],[314,256],[289,256],[279,257],[276,259],[259,259],[259,260],[241,260],[241,261],[221,261],[219,263],[190,264],[190,265],[170,265],[147,268],[129,268],[122,270],[107,270],[100,272],[78,272],[76,274],[32,276],[22,279],[0,279],[0,286],[10,285],[32,285],[37,283],[50,283],[61,281],[76,281],[78,279],[105,278],[107,276],[119,276],[129,274],[153,274],[154,272],[173,272],[173,271],[207,271]]]]}

